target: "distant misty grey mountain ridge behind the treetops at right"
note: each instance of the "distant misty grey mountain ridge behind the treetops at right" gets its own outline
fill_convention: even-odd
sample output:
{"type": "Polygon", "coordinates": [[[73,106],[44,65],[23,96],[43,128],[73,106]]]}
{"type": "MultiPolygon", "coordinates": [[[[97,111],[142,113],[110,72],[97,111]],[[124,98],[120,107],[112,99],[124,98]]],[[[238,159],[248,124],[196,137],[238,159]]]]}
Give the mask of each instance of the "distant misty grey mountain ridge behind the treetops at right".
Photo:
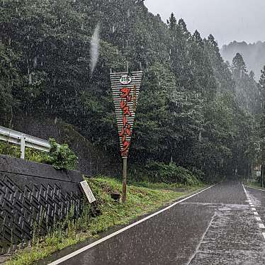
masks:
{"type": "Polygon", "coordinates": [[[236,53],[239,52],[246,62],[248,72],[253,71],[256,81],[259,81],[261,69],[265,65],[265,42],[246,43],[233,41],[229,45],[223,45],[220,50],[225,61],[232,64],[236,53]]]}

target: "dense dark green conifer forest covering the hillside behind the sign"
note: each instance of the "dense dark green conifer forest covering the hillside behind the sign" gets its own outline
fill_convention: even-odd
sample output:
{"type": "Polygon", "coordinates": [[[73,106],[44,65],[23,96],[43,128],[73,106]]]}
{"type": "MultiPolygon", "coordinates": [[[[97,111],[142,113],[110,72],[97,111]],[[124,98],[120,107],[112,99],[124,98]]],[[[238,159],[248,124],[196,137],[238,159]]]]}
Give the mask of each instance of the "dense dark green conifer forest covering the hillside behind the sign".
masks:
{"type": "Polygon", "coordinates": [[[208,178],[250,174],[258,162],[265,71],[257,84],[242,55],[227,64],[213,35],[190,33],[173,13],[164,23],[139,0],[5,0],[0,30],[1,125],[22,113],[60,118],[118,157],[109,73],[128,64],[144,71],[132,162],[208,178]]]}

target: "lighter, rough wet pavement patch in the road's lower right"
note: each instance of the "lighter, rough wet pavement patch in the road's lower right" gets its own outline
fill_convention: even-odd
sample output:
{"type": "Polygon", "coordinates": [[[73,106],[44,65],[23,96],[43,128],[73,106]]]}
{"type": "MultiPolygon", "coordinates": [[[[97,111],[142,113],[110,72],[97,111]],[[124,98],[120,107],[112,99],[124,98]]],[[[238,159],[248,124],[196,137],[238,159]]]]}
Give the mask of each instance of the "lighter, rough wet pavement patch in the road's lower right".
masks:
{"type": "Polygon", "coordinates": [[[265,241],[249,205],[215,205],[216,212],[188,265],[265,264],[265,241]]]}

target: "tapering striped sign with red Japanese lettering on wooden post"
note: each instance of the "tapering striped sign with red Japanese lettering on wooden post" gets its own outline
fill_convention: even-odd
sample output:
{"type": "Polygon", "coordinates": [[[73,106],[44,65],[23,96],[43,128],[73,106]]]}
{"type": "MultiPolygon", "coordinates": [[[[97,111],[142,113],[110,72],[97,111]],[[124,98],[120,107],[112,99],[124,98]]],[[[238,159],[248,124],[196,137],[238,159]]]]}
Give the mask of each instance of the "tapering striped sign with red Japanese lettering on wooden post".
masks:
{"type": "Polygon", "coordinates": [[[122,157],[128,157],[141,81],[142,71],[129,74],[111,73],[111,89],[122,157]]]}

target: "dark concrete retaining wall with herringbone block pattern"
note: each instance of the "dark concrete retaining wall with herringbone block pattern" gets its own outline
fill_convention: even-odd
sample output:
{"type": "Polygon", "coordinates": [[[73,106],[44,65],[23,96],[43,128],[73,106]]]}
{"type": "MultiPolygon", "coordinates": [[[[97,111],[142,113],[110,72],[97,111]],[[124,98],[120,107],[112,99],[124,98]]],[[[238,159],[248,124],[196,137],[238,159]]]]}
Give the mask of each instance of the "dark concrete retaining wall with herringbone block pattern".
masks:
{"type": "Polygon", "coordinates": [[[36,225],[47,227],[81,210],[79,171],[0,155],[0,254],[25,247],[36,225]]]}

